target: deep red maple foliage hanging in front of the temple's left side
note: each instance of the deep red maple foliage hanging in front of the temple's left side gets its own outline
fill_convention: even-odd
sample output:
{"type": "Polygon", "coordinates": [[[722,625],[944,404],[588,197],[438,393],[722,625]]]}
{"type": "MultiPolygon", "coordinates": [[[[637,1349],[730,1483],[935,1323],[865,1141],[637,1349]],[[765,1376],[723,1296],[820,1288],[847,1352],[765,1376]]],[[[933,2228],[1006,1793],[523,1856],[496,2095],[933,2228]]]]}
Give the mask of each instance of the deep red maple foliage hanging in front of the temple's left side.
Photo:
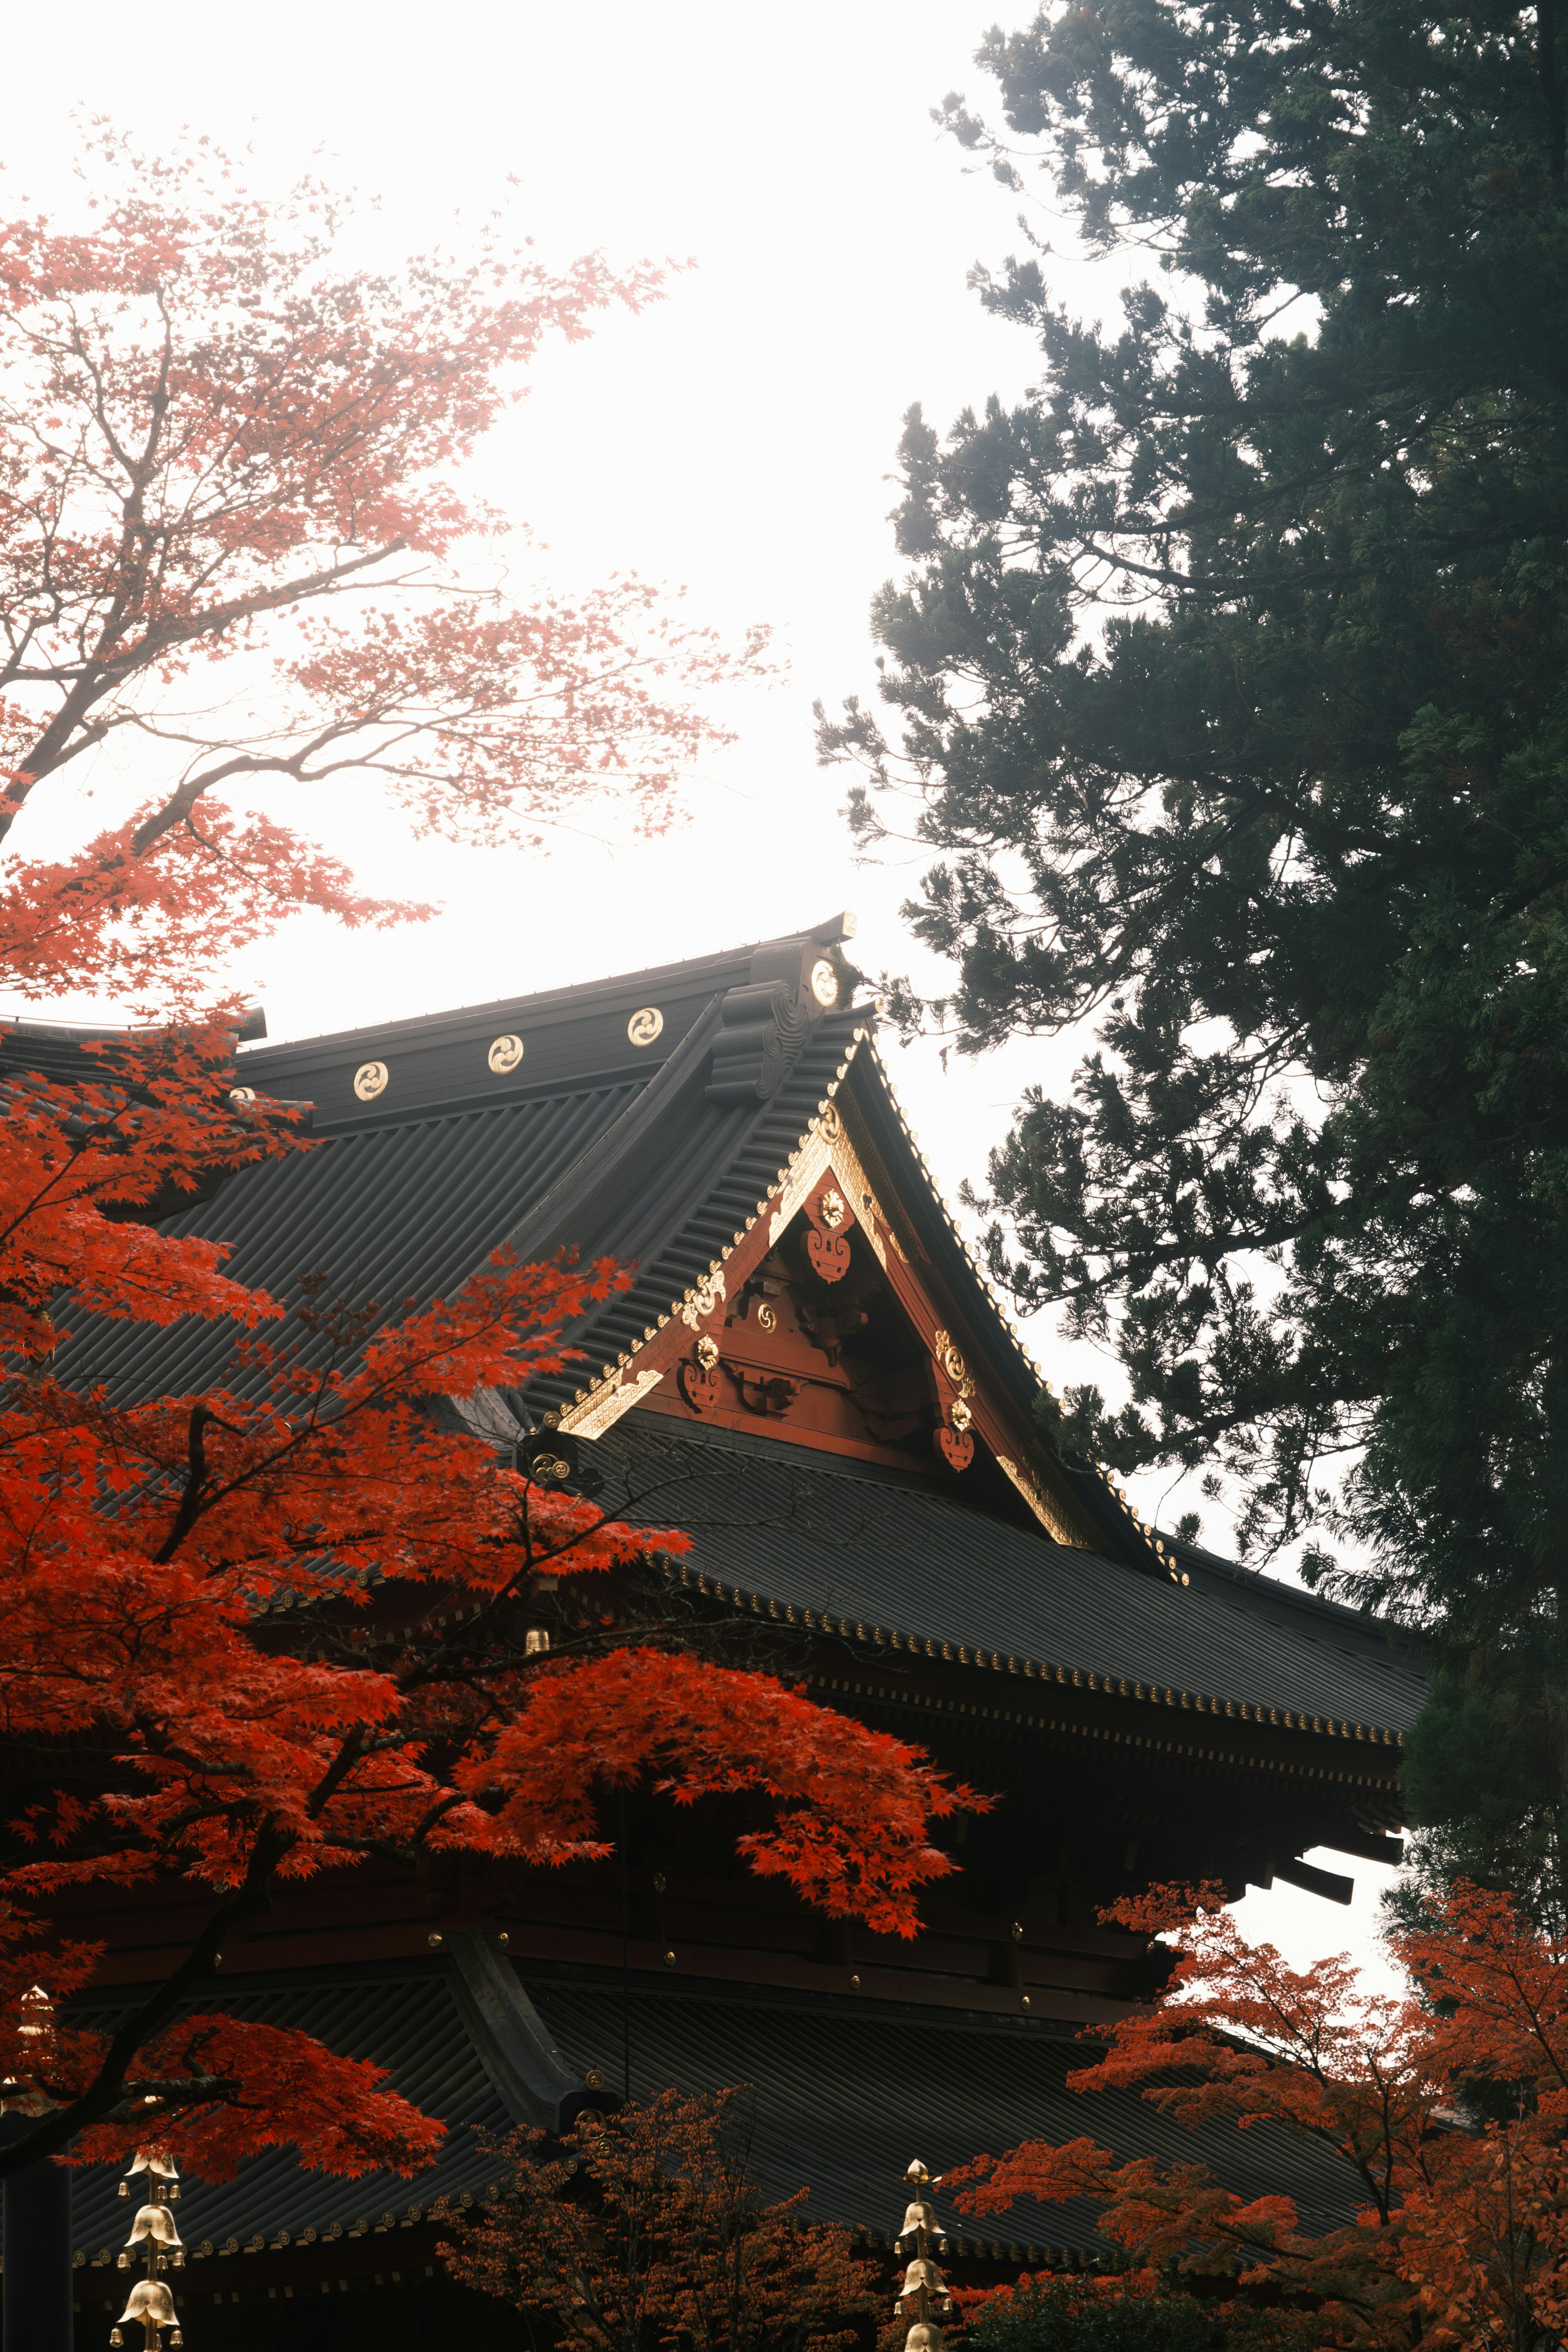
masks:
{"type": "Polygon", "coordinates": [[[101,1757],[85,1792],[71,1755],[0,1875],[0,2070],[52,2103],[7,2169],[73,2136],[82,2159],[120,2154],[146,2140],[148,2098],[209,2178],[280,2133],[350,2169],[428,2154],[437,2126],[374,2070],[237,2025],[209,1997],[188,2016],[226,1931],[280,1882],[367,1856],[602,1856],[597,1795],[646,1773],[682,1804],[755,1792],[771,1825],[743,1839],[752,1867],[910,1933],[917,1889],[950,1867],[926,1820],[964,1797],[917,1750],[703,1656],[693,1628],[649,1611],[649,1555],[684,1552],[684,1534],[607,1517],[430,1411],[559,1369],[562,1329],[628,1284],[621,1268],[498,1254],[416,1312],[317,1294],[277,1343],[273,1301],[237,1294],[212,1244],[103,1214],[155,1192],[181,1155],[299,1148],[266,1129],[266,1105],[202,1084],[212,1051],[167,1037],[89,1101],[24,1089],[24,1148],[0,1176],[2,1729],[31,1776],[52,1743],[101,1757]],[[146,1404],[71,1390],[49,1369],[75,1319],[59,1284],[99,1315],[237,1312],[256,1336],[235,1362],[263,1381],[146,1404]],[[531,1653],[520,1623],[541,1578],[595,1595],[559,1656],[531,1653]],[[212,1893],[197,1943],[118,2034],[56,2018],[42,2044],[28,1990],[59,2004],[96,1959],[71,1933],[75,1898],[169,1872],[212,1893]]]}

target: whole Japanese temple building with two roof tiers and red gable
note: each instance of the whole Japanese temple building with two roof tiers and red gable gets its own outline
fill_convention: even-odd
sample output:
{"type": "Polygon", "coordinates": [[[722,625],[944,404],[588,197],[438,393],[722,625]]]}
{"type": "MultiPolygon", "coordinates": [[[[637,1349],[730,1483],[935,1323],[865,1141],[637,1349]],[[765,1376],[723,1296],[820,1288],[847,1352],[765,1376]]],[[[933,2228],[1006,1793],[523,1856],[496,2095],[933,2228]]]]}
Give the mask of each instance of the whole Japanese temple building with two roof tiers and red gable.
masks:
{"type": "MultiPolygon", "coordinates": [[[[512,2312],[447,2281],[428,2209],[489,2192],[477,2129],[564,2129],[628,2070],[632,2093],[750,2084],[766,2183],[811,2183],[813,2213],[879,2244],[910,2157],[947,2171],[1025,2136],[1199,2152],[1307,2220],[1349,2204],[1309,2145],[1215,2131],[1194,2150],[1143,2100],[1065,2077],[1079,2032],[1161,1966],[1098,1922],[1117,1893],[1286,1879],[1333,1903],[1349,1877],[1302,1853],[1399,1858],[1420,1663],[1375,1618],[1145,1526],[1041,1439],[1041,1371],[898,1108],[849,929],[240,1044],[235,1082],[308,1101],[315,1148],[167,1230],[228,1242],[233,1275],[292,1303],[317,1272],[423,1303],[503,1242],[635,1261],[574,1334],[576,1378],[480,1399],[470,1425],[597,1470],[609,1508],[656,1489],[696,1538],[665,1569],[691,1609],[1001,1802],[954,1832],[961,1867],[912,1943],[820,1919],[736,1863],[719,1809],[656,1799],[628,1811],[625,1867],[388,1867],[280,1896],[223,1955],[226,2006],[390,2065],[451,2129],[411,2183],[287,2154],[186,2180],[190,2352],[515,2343],[512,2312]]],[[[49,1035],[7,1051],[45,1065],[49,1035]]],[[[221,1324],[99,1327],[61,1374],[193,1390],[230,1378],[230,1345],[221,1324]]],[[[94,1912],[113,1957],[92,2009],[160,1973],[195,1917],[179,1882],[94,1912]]],[[[940,2190],[938,2211],[959,2284],[1095,2258],[1086,2211],[1013,2213],[1006,2241],[940,2190]]],[[[80,2347],[118,2312],[122,2216],[113,2173],[78,2180],[80,2347]]]]}

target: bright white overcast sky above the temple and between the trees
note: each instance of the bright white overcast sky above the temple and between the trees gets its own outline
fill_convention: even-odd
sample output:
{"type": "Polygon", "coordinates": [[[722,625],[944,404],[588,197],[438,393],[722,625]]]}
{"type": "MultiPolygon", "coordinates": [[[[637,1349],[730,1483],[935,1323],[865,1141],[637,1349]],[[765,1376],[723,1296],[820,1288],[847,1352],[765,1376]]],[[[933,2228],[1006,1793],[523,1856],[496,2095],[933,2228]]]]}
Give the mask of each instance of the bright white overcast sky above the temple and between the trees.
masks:
{"type": "MultiPolygon", "coordinates": [[[[1025,12],[1001,9],[1009,24],[1025,12]]],[[[922,400],[945,428],[1032,381],[1030,341],[987,320],[964,282],[976,259],[1018,245],[1018,198],[966,174],[929,115],[954,87],[990,101],[971,54],[994,16],[997,0],[172,0],[153,16],[85,0],[9,24],[9,200],[71,209],[75,106],[150,148],[181,127],[249,148],[263,191],[315,162],[381,198],[367,252],[461,238],[454,214],[480,219],[512,181],[517,226],[545,261],[588,247],[696,261],[661,308],[545,353],[482,482],[534,529],[550,579],[635,569],[682,583],[693,619],[773,623],[788,680],[726,703],[738,743],[693,783],[689,823],[656,844],[604,828],[548,858],[411,851],[369,797],[280,804],[369,887],[435,896],[442,915],[371,938],[299,924],[256,953],[240,978],[273,1037],[590,981],[842,906],[860,915],[870,971],[922,971],[898,922],[919,866],[853,863],[844,776],[816,767],[811,701],[875,684],[867,600],[893,569],[905,407],[922,400]]],[[[1114,280],[1070,256],[1056,285],[1081,313],[1114,310],[1114,280]]],[[[924,978],[940,985],[933,969],[924,978]]],[[[1067,1049],[1030,1042],[947,1073],[936,1049],[891,1056],[950,1195],[983,1178],[1020,1087],[1060,1087],[1072,1065],[1067,1049]]],[[[1056,1385],[1114,1385],[1046,1322],[1027,1338],[1056,1385]]],[[[1131,1486],[1145,1510],[1166,1496],[1161,1477],[1131,1486]]],[[[1295,1957],[1340,1943],[1371,1957],[1380,1872],[1354,1875],[1352,1915],[1279,1889],[1248,1898],[1248,1926],[1295,1957]]]]}

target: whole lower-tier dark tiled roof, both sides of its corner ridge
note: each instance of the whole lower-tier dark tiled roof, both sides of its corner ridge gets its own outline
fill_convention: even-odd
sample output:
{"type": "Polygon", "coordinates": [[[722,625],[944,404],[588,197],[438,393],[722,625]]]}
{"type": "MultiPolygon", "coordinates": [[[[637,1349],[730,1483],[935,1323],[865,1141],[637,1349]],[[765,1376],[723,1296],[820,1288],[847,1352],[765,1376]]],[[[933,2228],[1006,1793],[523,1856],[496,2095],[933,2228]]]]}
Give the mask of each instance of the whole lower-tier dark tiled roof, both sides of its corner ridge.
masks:
{"type": "MultiPolygon", "coordinates": [[[[473,1950],[482,1945],[477,1936],[451,1940],[473,1950]]],[[[1192,2133],[1135,2093],[1084,2098],[1070,2091],[1067,2074],[1091,2053],[1060,2027],[985,2016],[931,2018],[903,2004],[715,1997],[679,1983],[632,1980],[625,1994],[611,1983],[534,1973],[524,1983],[494,1947],[491,1966],[510,1980],[503,1997],[517,2027],[578,2084],[597,2067],[616,2091],[630,2037],[630,2089],[637,2098],[663,2089],[750,2086],[752,2161],[764,2192],[788,2197],[809,2185],[811,2218],[865,2230],[879,2244],[891,2241],[903,2216],[903,2171],[912,2154],[945,2173],[1025,2138],[1091,2133],[1121,2157],[1206,2161],[1225,2185],[1258,2192],[1260,2131],[1246,2140],[1232,2126],[1192,2133]],[[898,2105],[889,2100],[891,2084],[903,2091],[898,2105]],[[905,2145],[910,2131],[919,2147],[905,2145]]],[[[343,2056],[383,2065],[393,2089],[440,2117],[449,2133],[437,2161],[414,2178],[336,2178],[308,2171],[287,2150],[249,2159],[230,2183],[186,2178],[179,2227],[195,2256],[186,2281],[197,2293],[212,2277],[205,2265],[221,2258],[226,2239],[235,2239],[237,2249],[252,2239],[275,2246],[287,2232],[299,2246],[306,2232],[327,2241],[334,2232],[386,2232],[395,2258],[395,2232],[428,2220],[437,2199],[484,2199],[496,2164],[480,2131],[503,2133],[517,2122],[541,2122],[541,2112],[510,2089],[494,2020],[487,2027],[475,2013],[456,1955],[310,1971],[287,1983],[235,1978],[223,1985],[223,2006],[233,2016],[301,2027],[343,2056]]],[[[108,2023],[108,2013],[99,2023],[108,2023]]],[[[590,2100],[592,2093],[578,2096],[578,2105],[590,2100]]],[[[571,2105],[562,2114],[562,2122],[569,2119],[571,2105]]],[[[1349,2218],[1359,2201],[1349,2169],[1316,2143],[1260,2129],[1272,2143],[1269,2187],[1298,2199],[1302,2223],[1321,2230],[1349,2218]]],[[[980,2223],[964,2220],[938,2192],[938,2218],[959,2239],[959,2258],[985,2258],[992,2232],[1023,2241],[1025,2260],[1100,2244],[1086,2206],[1030,2204],[980,2223]]],[[[125,2241],[125,2227],[118,2169],[80,2171],[73,2234],[87,2263],[103,2267],[103,2256],[125,2241]]],[[[322,2258],[329,2260],[327,2246],[322,2258]]]]}

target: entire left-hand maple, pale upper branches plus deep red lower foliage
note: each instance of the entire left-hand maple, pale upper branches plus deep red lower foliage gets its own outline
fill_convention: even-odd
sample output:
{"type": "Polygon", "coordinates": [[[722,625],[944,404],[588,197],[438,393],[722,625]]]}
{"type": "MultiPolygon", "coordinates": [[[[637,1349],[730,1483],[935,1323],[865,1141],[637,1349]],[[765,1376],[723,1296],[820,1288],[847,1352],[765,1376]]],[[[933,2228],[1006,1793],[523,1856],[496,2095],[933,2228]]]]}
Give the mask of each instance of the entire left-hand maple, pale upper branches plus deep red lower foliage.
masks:
{"type": "Polygon", "coordinates": [[[522,609],[442,572],[498,529],[449,473],[527,355],[658,273],[548,278],[489,245],[468,270],[343,275],[320,188],[284,233],[202,151],[106,160],[92,233],[0,223],[0,828],[115,736],[174,781],[75,851],[0,849],[0,976],[134,990],[165,1023],[92,1077],[0,1096],[0,1738],[33,1792],[0,1870],[0,2082],[31,2129],[0,2171],[68,2143],[155,2143],[209,2178],[275,2143],[407,2171],[437,2124],[214,1997],[268,1889],[367,1856],[602,1853],[599,1797],[651,1776],[682,1804],[752,1792],[752,1867],[912,1931],[950,1867],[926,1820],[966,1792],[705,1653],[649,1566],[679,1531],[609,1519],[433,1414],[559,1367],[625,1270],[503,1254],[421,1308],[317,1289],[280,1338],[221,1244],[160,1230],[202,1181],[310,1148],[233,1098],[230,1033],[193,1011],[214,960],[292,906],[393,913],[214,793],[357,767],[418,826],[489,837],[609,783],[658,823],[712,734],[679,694],[726,656],[637,583],[522,609]],[[249,731],[197,680],[237,656],[252,684],[266,661],[249,731]],[[85,1315],[230,1317],[235,1385],[73,1390],[54,1362],[85,1315]],[[541,1581],[564,1632],[543,1656],[541,1581]],[[169,1877],[207,1891],[200,1933],[113,2032],[73,2023],[101,1943],[68,1922],[94,1886],[169,1877]]]}

